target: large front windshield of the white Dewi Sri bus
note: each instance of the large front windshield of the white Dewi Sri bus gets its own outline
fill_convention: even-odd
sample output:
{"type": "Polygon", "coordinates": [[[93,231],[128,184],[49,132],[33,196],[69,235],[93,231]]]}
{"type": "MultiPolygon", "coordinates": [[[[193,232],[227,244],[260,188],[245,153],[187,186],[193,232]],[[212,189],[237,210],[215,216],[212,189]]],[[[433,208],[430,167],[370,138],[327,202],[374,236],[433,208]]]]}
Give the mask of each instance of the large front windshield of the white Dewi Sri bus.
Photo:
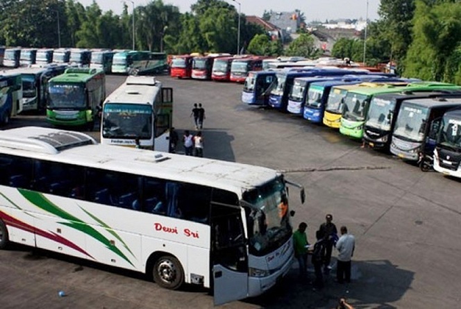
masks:
{"type": "Polygon", "coordinates": [[[285,194],[285,183],[279,177],[243,195],[253,206],[245,210],[250,253],[255,256],[274,251],[291,237],[288,207],[280,207],[285,194]]]}

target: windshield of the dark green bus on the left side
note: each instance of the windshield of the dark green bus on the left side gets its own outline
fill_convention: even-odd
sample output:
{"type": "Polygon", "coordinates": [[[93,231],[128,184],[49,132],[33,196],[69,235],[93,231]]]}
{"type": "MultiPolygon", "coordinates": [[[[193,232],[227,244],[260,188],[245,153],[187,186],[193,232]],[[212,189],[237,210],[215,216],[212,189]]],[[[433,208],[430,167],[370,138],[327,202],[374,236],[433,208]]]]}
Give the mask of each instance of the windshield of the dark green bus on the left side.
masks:
{"type": "Polygon", "coordinates": [[[85,87],[81,83],[50,83],[49,108],[86,108],[85,87]]]}

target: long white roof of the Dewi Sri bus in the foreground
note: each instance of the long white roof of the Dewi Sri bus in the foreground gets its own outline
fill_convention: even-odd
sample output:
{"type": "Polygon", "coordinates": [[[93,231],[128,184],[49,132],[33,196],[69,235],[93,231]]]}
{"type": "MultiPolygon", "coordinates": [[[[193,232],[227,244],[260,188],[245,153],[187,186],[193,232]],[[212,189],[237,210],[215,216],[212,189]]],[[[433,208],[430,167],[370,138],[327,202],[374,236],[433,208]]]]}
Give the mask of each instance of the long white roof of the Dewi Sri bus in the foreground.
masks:
{"type": "Polygon", "coordinates": [[[0,152],[196,183],[238,194],[242,189],[250,190],[280,175],[266,167],[94,144],[92,137],[84,133],[56,128],[22,127],[0,131],[0,152]]]}

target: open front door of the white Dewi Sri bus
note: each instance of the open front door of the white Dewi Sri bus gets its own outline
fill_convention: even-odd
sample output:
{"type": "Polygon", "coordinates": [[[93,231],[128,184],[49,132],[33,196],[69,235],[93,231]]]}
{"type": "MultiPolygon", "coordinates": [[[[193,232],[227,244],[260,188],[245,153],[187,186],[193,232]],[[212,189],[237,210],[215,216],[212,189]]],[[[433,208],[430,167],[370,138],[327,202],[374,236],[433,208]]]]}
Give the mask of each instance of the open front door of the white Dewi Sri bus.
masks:
{"type": "MultiPolygon", "coordinates": [[[[215,199],[216,194],[213,194],[215,199]]],[[[212,201],[211,257],[215,305],[248,296],[248,253],[242,208],[212,201]]]]}

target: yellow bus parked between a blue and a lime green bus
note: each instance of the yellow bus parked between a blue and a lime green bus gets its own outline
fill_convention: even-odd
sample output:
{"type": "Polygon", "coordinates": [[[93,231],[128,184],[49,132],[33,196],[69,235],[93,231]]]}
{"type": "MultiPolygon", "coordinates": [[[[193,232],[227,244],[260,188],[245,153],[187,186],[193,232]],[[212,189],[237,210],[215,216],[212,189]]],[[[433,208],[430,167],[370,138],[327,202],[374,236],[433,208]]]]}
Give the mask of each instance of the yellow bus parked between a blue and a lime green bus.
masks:
{"type": "MultiPolygon", "coordinates": [[[[340,128],[341,126],[341,115],[344,107],[344,97],[349,90],[361,89],[364,87],[383,87],[387,83],[370,83],[364,82],[360,84],[351,85],[337,85],[333,86],[328,94],[326,100],[324,119],[322,122],[324,125],[330,128],[340,128]]],[[[407,85],[405,82],[396,82],[395,85],[407,85]]]]}

